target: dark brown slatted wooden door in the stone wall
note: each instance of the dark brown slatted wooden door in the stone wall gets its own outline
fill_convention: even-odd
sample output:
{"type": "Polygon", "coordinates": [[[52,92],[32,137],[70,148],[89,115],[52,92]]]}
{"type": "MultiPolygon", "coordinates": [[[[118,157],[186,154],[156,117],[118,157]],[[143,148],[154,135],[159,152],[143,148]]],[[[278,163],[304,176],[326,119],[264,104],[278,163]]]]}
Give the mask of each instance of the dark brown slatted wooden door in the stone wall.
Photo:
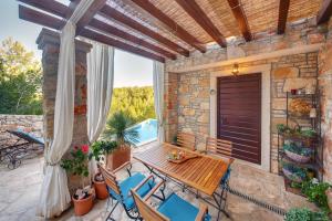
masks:
{"type": "Polygon", "coordinates": [[[232,141],[232,156],[261,164],[261,74],[217,80],[217,137],[232,141]]]}

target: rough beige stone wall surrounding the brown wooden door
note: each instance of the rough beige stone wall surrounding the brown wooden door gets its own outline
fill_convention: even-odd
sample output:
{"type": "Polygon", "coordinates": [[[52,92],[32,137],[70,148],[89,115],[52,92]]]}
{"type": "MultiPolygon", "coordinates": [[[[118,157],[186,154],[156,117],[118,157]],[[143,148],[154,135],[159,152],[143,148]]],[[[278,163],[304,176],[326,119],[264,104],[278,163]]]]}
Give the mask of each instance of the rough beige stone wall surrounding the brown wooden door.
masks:
{"type": "MultiPolygon", "coordinates": [[[[262,36],[246,44],[230,45],[227,49],[228,52],[225,49],[212,46],[205,54],[194,52],[189,57],[167,61],[166,76],[177,75],[177,77],[174,77],[177,81],[166,82],[166,87],[170,88],[166,91],[166,103],[169,102],[170,93],[177,94],[174,97],[174,99],[177,99],[177,108],[174,107],[174,99],[172,109],[168,109],[169,106],[166,107],[166,113],[173,113],[172,115],[166,115],[166,134],[176,134],[177,130],[194,133],[198,139],[197,148],[201,149],[205,147],[206,137],[210,135],[210,75],[222,70],[229,70],[231,66],[219,66],[178,74],[176,74],[176,70],[288,48],[324,43],[328,31],[326,25],[314,27],[312,20],[299,22],[289,27],[289,29],[284,35],[262,36]],[[177,124],[168,124],[173,120],[177,122],[177,124]]],[[[286,123],[286,91],[289,90],[286,87],[297,88],[308,83],[315,84],[318,52],[240,63],[240,71],[241,69],[258,65],[271,66],[271,171],[278,172],[276,125],[286,123]]],[[[170,141],[170,137],[166,137],[166,140],[170,141]]]]}

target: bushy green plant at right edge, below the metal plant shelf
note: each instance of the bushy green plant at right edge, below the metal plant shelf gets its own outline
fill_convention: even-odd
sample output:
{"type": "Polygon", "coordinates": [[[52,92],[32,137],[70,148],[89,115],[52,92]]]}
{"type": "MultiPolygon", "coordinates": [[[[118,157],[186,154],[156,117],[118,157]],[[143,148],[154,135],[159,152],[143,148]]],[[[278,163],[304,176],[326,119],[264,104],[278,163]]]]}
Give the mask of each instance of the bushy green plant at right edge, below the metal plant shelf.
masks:
{"type": "Polygon", "coordinates": [[[326,189],[332,187],[328,182],[319,182],[317,179],[302,182],[301,191],[308,197],[309,201],[314,202],[324,212],[329,212],[326,189]]]}

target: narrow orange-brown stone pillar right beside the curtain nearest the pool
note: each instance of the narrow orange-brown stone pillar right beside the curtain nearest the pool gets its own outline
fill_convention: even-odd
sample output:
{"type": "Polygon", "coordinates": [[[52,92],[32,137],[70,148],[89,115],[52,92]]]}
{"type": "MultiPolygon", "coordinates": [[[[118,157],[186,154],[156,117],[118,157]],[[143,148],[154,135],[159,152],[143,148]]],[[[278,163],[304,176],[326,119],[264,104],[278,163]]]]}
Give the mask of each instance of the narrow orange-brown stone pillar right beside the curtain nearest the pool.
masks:
{"type": "Polygon", "coordinates": [[[165,141],[172,143],[177,134],[178,74],[165,73],[165,141]]]}

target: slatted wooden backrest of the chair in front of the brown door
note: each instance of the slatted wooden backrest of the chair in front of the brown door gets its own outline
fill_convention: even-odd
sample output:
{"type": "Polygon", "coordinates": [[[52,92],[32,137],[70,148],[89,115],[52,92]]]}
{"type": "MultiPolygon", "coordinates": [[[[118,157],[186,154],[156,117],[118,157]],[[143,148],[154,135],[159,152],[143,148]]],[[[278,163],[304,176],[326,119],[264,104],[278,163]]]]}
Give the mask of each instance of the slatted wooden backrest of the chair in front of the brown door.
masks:
{"type": "Polygon", "coordinates": [[[206,150],[207,152],[211,152],[214,155],[221,155],[224,157],[230,158],[232,144],[229,140],[208,137],[206,139],[206,150]]]}

